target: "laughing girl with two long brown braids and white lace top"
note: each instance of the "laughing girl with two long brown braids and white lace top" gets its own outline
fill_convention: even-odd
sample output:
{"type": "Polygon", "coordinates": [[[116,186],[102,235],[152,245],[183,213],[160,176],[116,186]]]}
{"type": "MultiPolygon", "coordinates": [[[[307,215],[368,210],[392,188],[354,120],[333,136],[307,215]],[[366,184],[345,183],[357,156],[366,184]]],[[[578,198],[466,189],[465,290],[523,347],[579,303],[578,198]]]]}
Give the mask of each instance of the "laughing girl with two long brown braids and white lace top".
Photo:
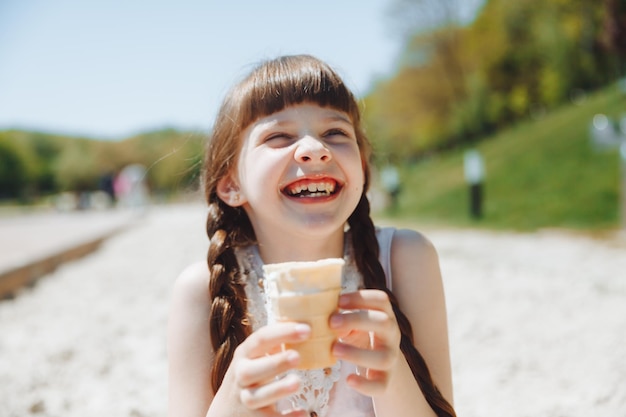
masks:
{"type": "Polygon", "coordinates": [[[205,155],[207,262],[173,292],[171,417],[455,415],[437,254],[372,223],[360,123],[311,56],[267,61],[227,95],[205,155]],[[346,261],[330,318],[340,360],[294,371],[298,353],[281,345],[310,328],[268,323],[262,265],[331,257],[346,261]]]}

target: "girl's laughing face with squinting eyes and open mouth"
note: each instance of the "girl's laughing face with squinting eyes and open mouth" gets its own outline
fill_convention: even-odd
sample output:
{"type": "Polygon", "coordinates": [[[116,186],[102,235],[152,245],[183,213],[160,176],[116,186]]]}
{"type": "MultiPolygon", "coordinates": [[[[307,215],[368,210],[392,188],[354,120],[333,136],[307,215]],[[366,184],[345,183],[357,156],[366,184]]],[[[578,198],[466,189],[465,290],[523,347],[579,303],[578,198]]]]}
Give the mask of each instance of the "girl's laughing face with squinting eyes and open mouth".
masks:
{"type": "Polygon", "coordinates": [[[237,176],[222,181],[221,197],[243,206],[259,242],[343,232],[363,193],[363,168],[349,116],[299,104],[243,132],[237,176]]]}

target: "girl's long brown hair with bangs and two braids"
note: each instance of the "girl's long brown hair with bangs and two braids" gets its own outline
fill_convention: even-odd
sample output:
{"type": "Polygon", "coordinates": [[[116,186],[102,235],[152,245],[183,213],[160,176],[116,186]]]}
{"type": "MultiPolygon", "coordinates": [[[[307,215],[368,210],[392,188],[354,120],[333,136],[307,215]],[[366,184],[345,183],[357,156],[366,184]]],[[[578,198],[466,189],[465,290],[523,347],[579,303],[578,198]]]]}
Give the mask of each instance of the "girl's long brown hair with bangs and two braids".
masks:
{"type": "Polygon", "coordinates": [[[324,62],[309,56],[284,56],[254,69],[226,96],[213,126],[204,159],[204,191],[208,202],[207,256],[210,271],[210,332],[215,353],[211,384],[220,387],[235,348],[252,331],[247,316],[242,272],[234,248],[255,242],[252,225],[240,207],[231,207],[217,196],[217,183],[237,163],[243,130],[260,117],[291,105],[311,102],[332,107],[350,116],[365,162],[365,186],[361,200],[348,219],[354,255],[367,288],[385,291],[393,305],[402,339],[400,348],[426,400],[438,416],[455,416],[453,408],[435,386],[428,367],[413,344],[413,332],[398,302],[386,288],[378,261],[378,241],[366,196],[369,184],[371,146],[361,128],[358,104],[337,73],[324,62]]]}

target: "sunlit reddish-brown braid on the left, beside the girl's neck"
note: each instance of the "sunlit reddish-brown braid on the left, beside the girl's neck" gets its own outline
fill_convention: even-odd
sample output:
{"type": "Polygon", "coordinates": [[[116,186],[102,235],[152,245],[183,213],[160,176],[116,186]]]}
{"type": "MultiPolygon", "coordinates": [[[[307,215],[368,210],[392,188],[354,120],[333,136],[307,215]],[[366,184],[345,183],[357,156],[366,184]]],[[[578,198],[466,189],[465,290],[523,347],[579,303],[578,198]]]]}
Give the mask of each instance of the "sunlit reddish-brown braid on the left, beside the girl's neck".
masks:
{"type": "Polygon", "coordinates": [[[210,245],[207,264],[210,272],[210,333],[215,352],[211,370],[214,392],[222,384],[235,349],[251,333],[246,293],[233,249],[242,234],[238,230],[227,230],[234,225],[241,225],[241,222],[240,210],[223,207],[221,202],[209,204],[207,234],[210,245]]]}

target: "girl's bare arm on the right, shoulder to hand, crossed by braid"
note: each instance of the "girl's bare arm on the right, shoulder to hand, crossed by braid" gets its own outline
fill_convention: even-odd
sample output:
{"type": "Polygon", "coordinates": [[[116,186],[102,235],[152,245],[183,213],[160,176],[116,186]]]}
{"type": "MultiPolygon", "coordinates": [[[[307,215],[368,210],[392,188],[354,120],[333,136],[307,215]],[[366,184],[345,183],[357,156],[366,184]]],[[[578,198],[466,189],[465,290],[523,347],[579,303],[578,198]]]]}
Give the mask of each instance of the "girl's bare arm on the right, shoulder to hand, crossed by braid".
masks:
{"type": "MultiPolygon", "coordinates": [[[[393,291],[411,322],[415,345],[442,394],[451,401],[447,319],[436,251],[418,233],[397,231],[391,267],[393,291]]],[[[434,416],[400,351],[400,329],[386,294],[377,290],[344,294],[340,307],[351,312],[333,316],[331,325],[340,334],[352,336],[342,338],[335,353],[368,368],[366,376],[350,375],[348,384],[372,396],[379,417],[434,416]],[[371,344],[360,336],[368,332],[374,335],[371,344]]]]}

